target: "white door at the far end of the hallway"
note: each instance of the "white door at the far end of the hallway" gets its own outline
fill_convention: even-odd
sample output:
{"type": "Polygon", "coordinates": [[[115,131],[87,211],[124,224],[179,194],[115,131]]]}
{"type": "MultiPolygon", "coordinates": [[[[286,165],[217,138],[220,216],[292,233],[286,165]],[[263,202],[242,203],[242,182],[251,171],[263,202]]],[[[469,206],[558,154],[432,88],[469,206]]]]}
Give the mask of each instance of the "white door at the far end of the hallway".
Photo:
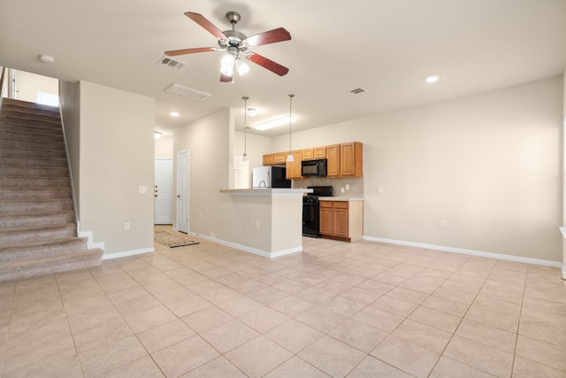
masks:
{"type": "Polygon", "coordinates": [[[173,222],[173,160],[157,159],[155,163],[154,223],[170,225],[173,222]]]}

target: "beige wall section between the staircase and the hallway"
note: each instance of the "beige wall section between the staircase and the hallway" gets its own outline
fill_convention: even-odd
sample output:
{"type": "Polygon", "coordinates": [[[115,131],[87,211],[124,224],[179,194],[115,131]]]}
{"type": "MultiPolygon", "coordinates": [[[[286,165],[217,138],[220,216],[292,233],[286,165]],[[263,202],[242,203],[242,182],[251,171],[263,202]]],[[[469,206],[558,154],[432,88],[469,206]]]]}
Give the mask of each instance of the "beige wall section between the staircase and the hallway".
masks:
{"type": "Polygon", "coordinates": [[[155,99],[80,81],[80,231],[105,255],[153,251],[154,123],[155,99]]]}

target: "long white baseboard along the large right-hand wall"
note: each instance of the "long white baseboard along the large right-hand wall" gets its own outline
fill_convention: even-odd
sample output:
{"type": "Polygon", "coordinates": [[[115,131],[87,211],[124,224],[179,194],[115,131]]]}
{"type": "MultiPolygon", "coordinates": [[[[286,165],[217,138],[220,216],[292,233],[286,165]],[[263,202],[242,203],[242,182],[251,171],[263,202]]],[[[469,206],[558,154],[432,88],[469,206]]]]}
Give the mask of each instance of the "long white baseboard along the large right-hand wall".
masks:
{"type": "Polygon", "coordinates": [[[482,257],[482,258],[498,258],[500,260],[515,261],[515,262],[519,262],[519,263],[534,264],[534,265],[539,265],[539,266],[554,266],[554,267],[562,268],[562,274],[565,273],[564,267],[562,266],[561,262],[543,260],[541,258],[524,258],[524,257],[521,257],[521,256],[504,255],[504,254],[501,254],[501,253],[466,250],[466,249],[463,249],[463,248],[446,247],[446,246],[443,246],[443,245],[404,242],[402,240],[385,239],[385,238],[382,238],[382,237],[374,237],[374,236],[366,236],[366,235],[363,235],[363,240],[369,240],[371,242],[408,245],[410,247],[424,248],[426,250],[436,250],[436,251],[443,251],[443,252],[460,253],[460,254],[463,254],[463,255],[479,256],[479,257],[482,257]]]}

